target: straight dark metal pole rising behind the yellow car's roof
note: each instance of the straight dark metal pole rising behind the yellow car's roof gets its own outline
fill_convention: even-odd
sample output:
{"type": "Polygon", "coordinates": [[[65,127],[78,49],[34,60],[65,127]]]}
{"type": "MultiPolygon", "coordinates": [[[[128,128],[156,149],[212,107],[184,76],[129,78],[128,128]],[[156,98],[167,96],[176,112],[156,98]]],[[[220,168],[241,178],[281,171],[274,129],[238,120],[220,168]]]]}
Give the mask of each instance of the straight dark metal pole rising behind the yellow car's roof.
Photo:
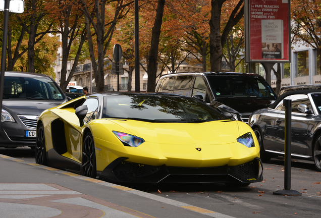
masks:
{"type": "Polygon", "coordinates": [[[135,92],[140,92],[139,81],[139,19],[138,0],[135,0],[135,92]]]}

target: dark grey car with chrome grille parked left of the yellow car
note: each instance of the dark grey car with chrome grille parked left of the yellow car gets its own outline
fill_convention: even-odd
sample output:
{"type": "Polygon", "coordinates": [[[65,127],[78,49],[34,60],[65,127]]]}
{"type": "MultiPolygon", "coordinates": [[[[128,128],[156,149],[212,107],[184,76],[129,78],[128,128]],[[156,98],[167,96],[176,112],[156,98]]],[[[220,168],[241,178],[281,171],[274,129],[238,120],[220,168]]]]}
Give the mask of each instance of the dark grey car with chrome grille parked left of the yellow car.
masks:
{"type": "Polygon", "coordinates": [[[43,74],[6,72],[0,147],[35,147],[37,119],[42,111],[67,101],[61,88],[43,74]]]}

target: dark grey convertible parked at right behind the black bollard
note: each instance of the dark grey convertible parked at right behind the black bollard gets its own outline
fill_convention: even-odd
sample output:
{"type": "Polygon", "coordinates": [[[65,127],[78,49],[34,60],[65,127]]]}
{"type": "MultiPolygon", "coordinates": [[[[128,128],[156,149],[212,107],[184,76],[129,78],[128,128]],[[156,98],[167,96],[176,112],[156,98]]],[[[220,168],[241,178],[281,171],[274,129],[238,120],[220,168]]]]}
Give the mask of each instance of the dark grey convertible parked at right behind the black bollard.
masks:
{"type": "Polygon", "coordinates": [[[249,119],[260,144],[262,161],[284,155],[285,106],[292,100],[292,156],[314,160],[321,171],[321,91],[297,90],[281,95],[269,108],[254,112],[249,119]]]}

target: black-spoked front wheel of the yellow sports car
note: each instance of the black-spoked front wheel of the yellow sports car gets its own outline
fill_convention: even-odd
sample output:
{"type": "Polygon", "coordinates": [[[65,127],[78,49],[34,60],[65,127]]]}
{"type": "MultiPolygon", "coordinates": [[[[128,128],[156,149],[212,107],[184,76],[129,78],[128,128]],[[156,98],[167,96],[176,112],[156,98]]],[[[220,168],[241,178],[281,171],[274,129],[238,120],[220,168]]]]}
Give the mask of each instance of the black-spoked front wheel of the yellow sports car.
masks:
{"type": "Polygon", "coordinates": [[[96,155],[92,134],[88,132],[83,141],[81,172],[86,177],[96,178],[96,155]]]}

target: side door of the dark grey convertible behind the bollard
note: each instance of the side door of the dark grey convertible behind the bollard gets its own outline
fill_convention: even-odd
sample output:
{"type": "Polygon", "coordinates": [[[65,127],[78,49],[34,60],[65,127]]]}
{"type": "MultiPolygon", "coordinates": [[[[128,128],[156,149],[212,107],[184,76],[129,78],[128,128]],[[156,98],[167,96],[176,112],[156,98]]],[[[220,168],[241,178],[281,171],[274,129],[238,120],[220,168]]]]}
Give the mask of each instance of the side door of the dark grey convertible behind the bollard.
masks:
{"type": "MultiPolygon", "coordinates": [[[[311,107],[311,102],[306,94],[294,94],[287,97],[292,100],[292,119],[291,119],[291,152],[292,154],[306,154],[307,145],[307,131],[311,115],[306,115],[298,111],[299,104],[306,104],[311,107]]],[[[312,109],[312,108],[311,108],[312,109]]],[[[285,107],[282,108],[282,113],[276,118],[274,129],[275,147],[278,151],[284,152],[285,143],[285,107]]]]}

